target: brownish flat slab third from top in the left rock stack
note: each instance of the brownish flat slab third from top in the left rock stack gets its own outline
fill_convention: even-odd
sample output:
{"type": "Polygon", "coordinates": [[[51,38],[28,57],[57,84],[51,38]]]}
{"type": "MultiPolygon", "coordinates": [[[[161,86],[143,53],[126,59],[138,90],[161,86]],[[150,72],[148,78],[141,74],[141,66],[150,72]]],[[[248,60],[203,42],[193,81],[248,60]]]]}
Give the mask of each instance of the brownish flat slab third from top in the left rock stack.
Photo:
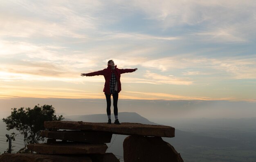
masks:
{"type": "Polygon", "coordinates": [[[108,149],[106,144],[83,144],[74,142],[56,142],[53,144],[28,144],[27,148],[43,154],[104,154],[108,149]]]}

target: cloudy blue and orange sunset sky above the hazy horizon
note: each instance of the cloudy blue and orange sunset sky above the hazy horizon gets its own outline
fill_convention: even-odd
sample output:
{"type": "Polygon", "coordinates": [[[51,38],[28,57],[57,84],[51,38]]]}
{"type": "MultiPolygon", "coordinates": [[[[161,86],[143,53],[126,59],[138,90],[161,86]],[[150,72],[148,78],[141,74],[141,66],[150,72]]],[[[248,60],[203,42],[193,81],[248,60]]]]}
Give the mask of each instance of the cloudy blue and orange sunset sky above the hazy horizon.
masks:
{"type": "MultiPolygon", "coordinates": [[[[0,99],[256,102],[254,0],[8,0],[0,3],[0,99]]],[[[32,106],[31,106],[32,107],[32,106]]]]}

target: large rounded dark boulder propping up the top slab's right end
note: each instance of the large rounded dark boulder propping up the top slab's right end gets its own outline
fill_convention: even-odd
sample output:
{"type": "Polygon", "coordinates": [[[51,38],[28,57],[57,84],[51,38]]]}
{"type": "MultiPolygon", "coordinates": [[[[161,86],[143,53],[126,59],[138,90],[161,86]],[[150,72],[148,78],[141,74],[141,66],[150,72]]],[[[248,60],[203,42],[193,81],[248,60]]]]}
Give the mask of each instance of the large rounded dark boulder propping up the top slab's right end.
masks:
{"type": "Polygon", "coordinates": [[[123,147],[124,162],[183,162],[174,147],[161,137],[128,136],[123,147]]]}

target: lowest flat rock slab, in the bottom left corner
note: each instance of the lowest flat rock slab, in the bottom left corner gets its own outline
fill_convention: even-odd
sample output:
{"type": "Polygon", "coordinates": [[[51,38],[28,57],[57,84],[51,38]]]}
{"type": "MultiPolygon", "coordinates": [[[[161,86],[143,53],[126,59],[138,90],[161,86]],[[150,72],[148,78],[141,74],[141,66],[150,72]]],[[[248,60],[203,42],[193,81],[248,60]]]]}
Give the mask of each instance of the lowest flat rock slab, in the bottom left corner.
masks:
{"type": "Polygon", "coordinates": [[[0,155],[0,162],[92,162],[92,160],[88,156],[6,153],[0,155]]]}

